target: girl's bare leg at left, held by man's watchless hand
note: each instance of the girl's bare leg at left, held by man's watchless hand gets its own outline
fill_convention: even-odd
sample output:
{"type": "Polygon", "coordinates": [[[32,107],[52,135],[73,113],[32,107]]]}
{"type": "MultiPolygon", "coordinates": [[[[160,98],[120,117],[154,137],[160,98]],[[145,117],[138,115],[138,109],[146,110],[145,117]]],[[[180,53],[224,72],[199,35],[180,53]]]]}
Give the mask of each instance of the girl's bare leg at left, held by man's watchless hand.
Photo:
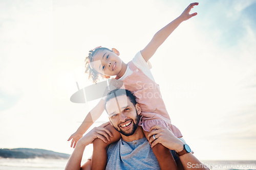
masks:
{"type": "Polygon", "coordinates": [[[110,141],[106,143],[99,138],[94,139],[91,169],[105,169],[106,160],[108,158],[106,155],[106,147],[121,138],[120,133],[117,132],[112,125],[108,125],[105,128],[109,129],[112,132],[113,137],[110,137],[110,141]]]}

